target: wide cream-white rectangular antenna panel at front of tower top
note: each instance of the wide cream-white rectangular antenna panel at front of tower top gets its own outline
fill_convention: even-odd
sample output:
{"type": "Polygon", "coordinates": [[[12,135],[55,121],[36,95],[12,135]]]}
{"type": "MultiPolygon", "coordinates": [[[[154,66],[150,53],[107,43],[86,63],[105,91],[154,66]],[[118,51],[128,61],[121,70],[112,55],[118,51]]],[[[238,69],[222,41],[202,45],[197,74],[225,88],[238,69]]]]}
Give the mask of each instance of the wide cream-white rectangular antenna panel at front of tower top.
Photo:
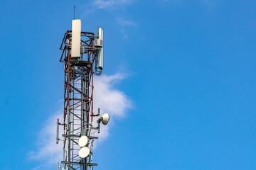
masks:
{"type": "Polygon", "coordinates": [[[72,21],[71,57],[80,57],[81,52],[81,20],[72,21]]]}

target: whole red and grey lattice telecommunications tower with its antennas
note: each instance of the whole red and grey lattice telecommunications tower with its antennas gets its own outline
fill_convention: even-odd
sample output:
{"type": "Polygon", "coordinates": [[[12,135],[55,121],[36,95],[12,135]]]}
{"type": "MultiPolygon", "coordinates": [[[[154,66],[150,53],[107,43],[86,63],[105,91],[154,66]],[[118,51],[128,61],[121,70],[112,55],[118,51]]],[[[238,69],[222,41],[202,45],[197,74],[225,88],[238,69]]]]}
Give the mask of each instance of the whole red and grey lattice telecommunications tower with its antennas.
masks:
{"type": "MultiPolygon", "coordinates": [[[[60,62],[64,63],[64,117],[57,119],[56,143],[63,142],[63,170],[92,170],[94,134],[100,133],[100,123],[107,125],[110,116],[93,111],[93,75],[103,69],[103,30],[96,34],[82,32],[81,20],[72,21],[72,30],[65,33],[60,45],[60,62]],[[95,118],[96,117],[96,118],[95,118]],[[63,135],[59,137],[59,126],[63,135]],[[61,139],[60,139],[61,138],[61,139]]],[[[58,170],[60,170],[58,163],[58,170]]]]}

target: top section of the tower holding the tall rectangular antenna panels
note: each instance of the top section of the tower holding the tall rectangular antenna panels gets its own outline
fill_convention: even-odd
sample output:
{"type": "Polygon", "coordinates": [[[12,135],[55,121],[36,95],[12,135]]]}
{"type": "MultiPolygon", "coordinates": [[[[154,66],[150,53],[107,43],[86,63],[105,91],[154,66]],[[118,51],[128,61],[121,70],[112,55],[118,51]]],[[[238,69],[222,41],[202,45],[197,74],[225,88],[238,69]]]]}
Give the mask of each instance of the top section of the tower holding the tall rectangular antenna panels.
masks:
{"type": "Polygon", "coordinates": [[[63,42],[60,45],[60,50],[63,53],[60,57],[60,62],[71,60],[78,64],[89,66],[88,62],[92,62],[94,66],[94,74],[101,74],[103,69],[103,29],[99,28],[95,33],[83,32],[82,21],[80,19],[72,20],[72,30],[65,33],[63,42]],[[67,56],[65,56],[65,53],[67,56]],[[64,59],[63,59],[64,56],[64,59]],[[87,56],[87,57],[85,57],[87,56]]]}

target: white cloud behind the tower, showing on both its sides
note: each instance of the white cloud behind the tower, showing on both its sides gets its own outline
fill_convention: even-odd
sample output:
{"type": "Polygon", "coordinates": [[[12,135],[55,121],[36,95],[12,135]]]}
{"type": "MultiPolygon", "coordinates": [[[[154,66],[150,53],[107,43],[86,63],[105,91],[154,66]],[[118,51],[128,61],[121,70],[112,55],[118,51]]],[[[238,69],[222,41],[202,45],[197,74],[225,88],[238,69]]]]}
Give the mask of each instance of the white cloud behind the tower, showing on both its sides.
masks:
{"type": "MultiPolygon", "coordinates": [[[[102,141],[109,135],[109,128],[113,125],[113,119],[123,118],[127,109],[131,108],[132,104],[124,92],[114,88],[114,84],[124,79],[122,74],[114,74],[111,76],[102,75],[95,76],[94,79],[94,108],[101,108],[101,114],[110,114],[110,123],[101,126],[99,140],[102,141]]],[[[28,153],[29,159],[43,160],[47,164],[57,164],[63,159],[63,142],[55,144],[56,119],[63,118],[63,111],[53,113],[46,123],[43,125],[41,132],[38,134],[38,150],[28,153]]],[[[60,120],[60,123],[63,120],[60,120]]],[[[63,133],[63,126],[60,126],[60,136],[63,133]]],[[[47,165],[41,165],[35,169],[46,169],[47,165]]]]}

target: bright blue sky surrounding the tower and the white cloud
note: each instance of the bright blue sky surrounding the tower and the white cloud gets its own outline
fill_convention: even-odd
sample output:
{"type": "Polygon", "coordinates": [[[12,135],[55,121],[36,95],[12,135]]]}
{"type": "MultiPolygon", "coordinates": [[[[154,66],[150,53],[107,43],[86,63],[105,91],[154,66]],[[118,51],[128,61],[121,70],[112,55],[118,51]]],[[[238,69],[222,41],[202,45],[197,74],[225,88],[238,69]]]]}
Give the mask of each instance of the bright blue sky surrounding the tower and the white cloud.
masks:
{"type": "Polygon", "coordinates": [[[256,1],[239,0],[1,1],[1,169],[56,168],[29,153],[63,107],[74,5],[82,30],[105,30],[104,74],[132,103],[97,169],[255,169],[256,1]]]}

